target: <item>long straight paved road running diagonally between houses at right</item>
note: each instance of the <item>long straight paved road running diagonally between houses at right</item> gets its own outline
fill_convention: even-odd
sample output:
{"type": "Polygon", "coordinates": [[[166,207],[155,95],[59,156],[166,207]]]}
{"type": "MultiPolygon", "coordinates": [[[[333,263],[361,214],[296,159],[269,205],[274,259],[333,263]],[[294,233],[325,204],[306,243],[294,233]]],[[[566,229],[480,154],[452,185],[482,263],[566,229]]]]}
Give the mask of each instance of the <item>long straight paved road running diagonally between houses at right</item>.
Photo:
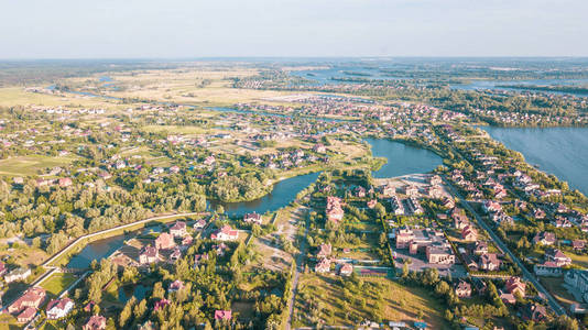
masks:
{"type": "Polygon", "coordinates": [[[464,199],[459,193],[457,193],[457,190],[451,184],[447,183],[447,186],[449,187],[454,196],[457,196],[459,198],[459,201],[461,202],[461,205],[465,208],[467,208],[476,217],[476,220],[478,221],[478,223],[488,232],[490,238],[494,241],[494,243],[497,243],[498,248],[503,253],[507,253],[511,257],[511,260],[519,266],[519,268],[523,273],[523,277],[526,280],[531,282],[535,286],[537,292],[543,294],[543,296],[547,299],[549,307],[555,311],[555,314],[557,314],[558,316],[566,315],[566,310],[557,302],[557,300],[555,300],[555,298],[549,294],[549,292],[547,292],[543,287],[543,285],[537,280],[537,278],[531,272],[526,270],[526,267],[519,260],[519,257],[516,257],[516,255],[514,255],[514,253],[510,251],[509,246],[507,246],[507,244],[502,242],[502,240],[494,233],[492,228],[490,228],[490,226],[488,226],[488,223],[486,223],[486,221],[482,220],[480,215],[478,215],[478,212],[473,210],[473,208],[469,205],[469,202],[466,199],[464,199]]]}

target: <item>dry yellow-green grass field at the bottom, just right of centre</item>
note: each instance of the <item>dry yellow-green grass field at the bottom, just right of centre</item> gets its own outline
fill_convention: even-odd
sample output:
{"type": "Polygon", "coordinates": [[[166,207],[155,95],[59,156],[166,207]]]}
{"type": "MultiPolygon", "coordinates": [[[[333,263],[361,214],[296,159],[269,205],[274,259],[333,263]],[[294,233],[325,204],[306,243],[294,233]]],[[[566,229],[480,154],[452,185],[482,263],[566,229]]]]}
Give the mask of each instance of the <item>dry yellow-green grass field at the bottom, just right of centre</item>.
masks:
{"type": "Polygon", "coordinates": [[[366,285],[360,289],[361,295],[356,295],[344,288],[336,276],[303,275],[295,301],[293,318],[295,326],[313,326],[305,300],[312,297],[313,300],[318,300],[318,306],[324,311],[320,318],[328,326],[355,326],[353,319],[373,320],[375,316],[372,311],[377,310],[377,301],[381,299],[383,305],[378,315],[382,321],[412,323],[417,320],[418,311],[422,311],[424,321],[431,329],[447,327],[442,316],[444,307],[429,290],[402,286],[388,278],[362,277],[361,279],[366,285]]]}

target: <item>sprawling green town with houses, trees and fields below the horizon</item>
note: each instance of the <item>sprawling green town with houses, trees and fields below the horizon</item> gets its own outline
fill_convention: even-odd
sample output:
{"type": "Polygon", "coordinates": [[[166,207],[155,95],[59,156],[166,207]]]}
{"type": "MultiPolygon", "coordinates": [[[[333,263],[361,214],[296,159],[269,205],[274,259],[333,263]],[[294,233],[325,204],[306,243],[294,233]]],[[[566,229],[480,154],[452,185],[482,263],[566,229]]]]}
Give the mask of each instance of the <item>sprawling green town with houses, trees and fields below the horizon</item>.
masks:
{"type": "Polygon", "coordinates": [[[588,124],[538,64],[92,65],[0,76],[0,328],[588,326],[586,178],[493,135],[588,124]]]}

